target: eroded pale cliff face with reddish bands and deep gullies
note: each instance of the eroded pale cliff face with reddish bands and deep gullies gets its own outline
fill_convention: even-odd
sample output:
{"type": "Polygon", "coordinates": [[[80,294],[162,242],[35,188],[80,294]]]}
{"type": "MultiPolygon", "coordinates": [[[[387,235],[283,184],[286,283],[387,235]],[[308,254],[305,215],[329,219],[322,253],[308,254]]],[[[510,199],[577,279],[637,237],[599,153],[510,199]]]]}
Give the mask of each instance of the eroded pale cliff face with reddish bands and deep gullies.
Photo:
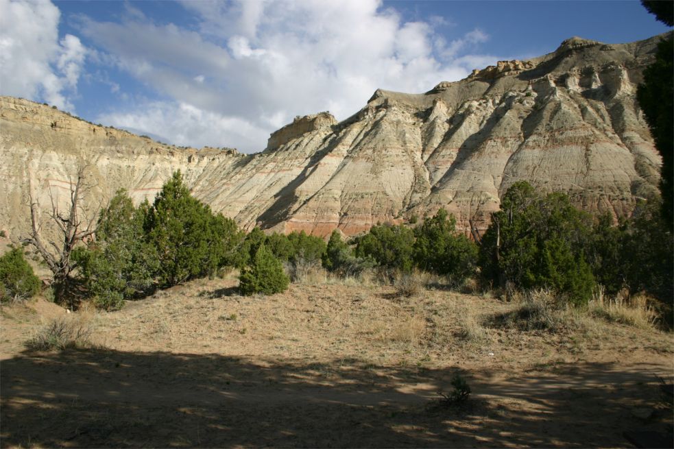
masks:
{"type": "Polygon", "coordinates": [[[484,230],[518,180],[593,213],[628,215],[657,191],[660,158],[635,93],[659,38],[571,38],[424,94],[377,90],[341,123],[326,112],[296,118],[251,156],[162,145],[5,97],[0,228],[27,230],[29,179],[49,206],[49,192],[67,193],[82,162],[95,198],[121,186],[153,197],[181,169],[197,197],[247,229],[356,234],[444,207],[466,232],[470,223],[484,230]]]}

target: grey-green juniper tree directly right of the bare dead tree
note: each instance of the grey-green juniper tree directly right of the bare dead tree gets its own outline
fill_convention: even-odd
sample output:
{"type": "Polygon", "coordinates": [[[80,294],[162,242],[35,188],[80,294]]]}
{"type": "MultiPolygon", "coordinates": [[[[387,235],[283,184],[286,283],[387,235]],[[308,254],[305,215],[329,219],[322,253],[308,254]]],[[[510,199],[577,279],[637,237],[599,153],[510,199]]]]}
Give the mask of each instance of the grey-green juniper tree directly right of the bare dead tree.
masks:
{"type": "Polygon", "coordinates": [[[159,269],[158,254],[143,230],[147,209],[134,208],[121,190],[101,210],[96,240],[75,251],[80,277],[95,304],[118,310],[124,300],[152,290],[159,269]]]}

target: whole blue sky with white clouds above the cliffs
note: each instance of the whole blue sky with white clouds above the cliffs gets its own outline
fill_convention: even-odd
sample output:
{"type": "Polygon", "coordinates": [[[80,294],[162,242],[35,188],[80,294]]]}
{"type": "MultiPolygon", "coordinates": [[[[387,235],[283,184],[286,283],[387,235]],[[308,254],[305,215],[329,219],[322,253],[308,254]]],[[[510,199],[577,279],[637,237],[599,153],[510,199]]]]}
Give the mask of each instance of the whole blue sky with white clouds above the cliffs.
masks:
{"type": "Polygon", "coordinates": [[[298,115],[338,120],[571,36],[669,31],[638,1],[0,0],[0,95],[193,147],[262,151],[298,115]]]}

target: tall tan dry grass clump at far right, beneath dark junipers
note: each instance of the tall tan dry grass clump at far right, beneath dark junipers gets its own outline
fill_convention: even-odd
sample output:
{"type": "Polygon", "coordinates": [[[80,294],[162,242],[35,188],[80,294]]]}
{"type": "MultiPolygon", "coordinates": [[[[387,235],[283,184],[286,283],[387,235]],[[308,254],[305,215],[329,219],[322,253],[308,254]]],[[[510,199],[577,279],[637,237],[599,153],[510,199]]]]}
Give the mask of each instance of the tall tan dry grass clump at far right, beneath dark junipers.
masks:
{"type": "Polygon", "coordinates": [[[637,295],[628,300],[618,294],[614,298],[607,298],[602,286],[592,294],[588,312],[590,316],[610,323],[627,324],[641,329],[654,328],[658,320],[658,313],[645,296],[637,295]]]}

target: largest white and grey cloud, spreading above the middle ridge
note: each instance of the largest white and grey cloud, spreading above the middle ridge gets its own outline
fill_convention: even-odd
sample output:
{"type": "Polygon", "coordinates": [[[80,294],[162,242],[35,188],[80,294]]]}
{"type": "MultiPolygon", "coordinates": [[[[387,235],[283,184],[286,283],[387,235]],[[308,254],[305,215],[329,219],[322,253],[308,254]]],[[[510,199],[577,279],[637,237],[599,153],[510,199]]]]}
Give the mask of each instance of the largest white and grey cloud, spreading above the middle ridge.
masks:
{"type": "Polygon", "coordinates": [[[158,127],[146,129],[180,144],[259,151],[270,132],[296,115],[330,110],[345,119],[377,88],[424,92],[466,76],[477,60],[496,61],[466,54],[488,39],[480,29],[447,42],[436,30],[443,21],[406,22],[377,0],[183,5],[197,19],[190,29],[154,23],[140,12],[115,22],[82,19],[82,36],[99,49],[97,61],[130,73],[164,99],[101,121],[158,127]]]}

